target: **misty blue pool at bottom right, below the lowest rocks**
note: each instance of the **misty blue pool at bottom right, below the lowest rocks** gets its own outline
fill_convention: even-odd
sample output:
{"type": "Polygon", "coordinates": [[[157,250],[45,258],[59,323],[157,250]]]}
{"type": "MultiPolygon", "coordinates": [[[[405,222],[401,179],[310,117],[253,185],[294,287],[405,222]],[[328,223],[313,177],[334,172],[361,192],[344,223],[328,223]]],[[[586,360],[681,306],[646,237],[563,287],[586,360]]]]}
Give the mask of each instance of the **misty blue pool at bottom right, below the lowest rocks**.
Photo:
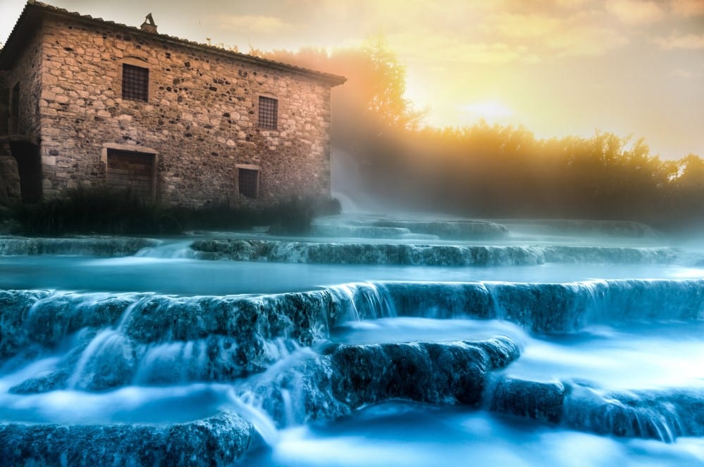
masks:
{"type": "Polygon", "coordinates": [[[622,440],[481,411],[390,402],[283,430],[250,466],[700,466],[704,440],[622,440]]]}

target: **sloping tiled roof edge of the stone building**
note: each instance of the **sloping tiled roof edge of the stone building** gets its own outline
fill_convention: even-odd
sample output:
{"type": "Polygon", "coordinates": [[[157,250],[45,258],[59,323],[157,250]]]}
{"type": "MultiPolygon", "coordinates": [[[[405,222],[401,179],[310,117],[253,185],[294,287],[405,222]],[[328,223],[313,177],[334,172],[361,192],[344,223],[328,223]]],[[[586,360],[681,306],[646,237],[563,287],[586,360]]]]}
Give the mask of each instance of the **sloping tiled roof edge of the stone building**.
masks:
{"type": "Polygon", "coordinates": [[[279,70],[288,70],[289,72],[297,73],[299,75],[305,75],[307,77],[320,79],[323,82],[327,82],[331,86],[338,86],[339,84],[342,84],[347,81],[347,78],[339,75],[310,70],[309,68],[302,68],[295,65],[290,65],[288,63],[278,62],[276,60],[268,60],[267,58],[255,57],[247,53],[228,51],[226,49],[210,46],[208,44],[200,44],[199,42],[181,39],[180,37],[169,36],[168,34],[147,32],[141,30],[139,27],[123,25],[121,23],[115,23],[114,21],[104,20],[102,18],[93,18],[91,15],[81,15],[80,13],[71,12],[63,8],[44,4],[36,0],[27,1],[25,8],[20,14],[20,18],[18,18],[15,23],[15,26],[13,27],[10,37],[8,37],[4,49],[0,51],[0,70],[6,70],[7,68],[9,68],[13,63],[14,59],[16,58],[16,54],[19,53],[20,49],[22,49],[22,47],[25,45],[25,41],[21,40],[21,37],[23,35],[23,32],[27,34],[27,32],[29,31],[23,31],[23,25],[25,23],[29,23],[31,25],[32,18],[39,18],[42,15],[54,15],[61,18],[73,19],[82,23],[92,23],[94,25],[109,25],[111,27],[117,27],[119,29],[128,30],[132,34],[140,34],[145,37],[150,37],[152,39],[156,38],[158,40],[168,41],[173,44],[180,44],[182,46],[190,47],[192,49],[199,49],[209,53],[215,53],[221,56],[230,56],[238,58],[248,63],[256,63],[259,65],[264,65],[279,70]]]}

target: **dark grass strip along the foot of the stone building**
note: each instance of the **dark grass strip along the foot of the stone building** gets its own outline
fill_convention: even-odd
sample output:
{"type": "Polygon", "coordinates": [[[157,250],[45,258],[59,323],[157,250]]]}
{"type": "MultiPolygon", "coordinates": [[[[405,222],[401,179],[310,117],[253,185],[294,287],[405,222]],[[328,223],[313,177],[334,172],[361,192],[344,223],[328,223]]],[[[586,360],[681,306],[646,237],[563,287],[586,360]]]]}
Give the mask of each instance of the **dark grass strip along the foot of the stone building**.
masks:
{"type": "Polygon", "coordinates": [[[337,200],[292,198],[266,207],[167,207],[146,203],[127,191],[70,188],[61,196],[11,211],[19,233],[61,236],[67,233],[169,235],[187,230],[245,230],[270,226],[271,233],[304,235],[318,215],[340,212],[337,200]]]}

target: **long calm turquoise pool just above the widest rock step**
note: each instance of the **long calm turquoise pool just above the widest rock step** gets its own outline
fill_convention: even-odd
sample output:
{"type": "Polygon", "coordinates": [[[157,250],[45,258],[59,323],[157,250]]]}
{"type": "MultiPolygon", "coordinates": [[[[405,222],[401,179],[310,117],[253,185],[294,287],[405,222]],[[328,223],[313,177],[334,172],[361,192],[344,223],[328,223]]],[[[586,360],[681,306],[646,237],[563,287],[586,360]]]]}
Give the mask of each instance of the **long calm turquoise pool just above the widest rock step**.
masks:
{"type": "Polygon", "coordinates": [[[14,256],[0,260],[0,288],[181,295],[283,293],[357,281],[562,283],[591,279],[698,279],[704,267],[676,264],[538,264],[431,267],[204,261],[156,257],[14,256]]]}

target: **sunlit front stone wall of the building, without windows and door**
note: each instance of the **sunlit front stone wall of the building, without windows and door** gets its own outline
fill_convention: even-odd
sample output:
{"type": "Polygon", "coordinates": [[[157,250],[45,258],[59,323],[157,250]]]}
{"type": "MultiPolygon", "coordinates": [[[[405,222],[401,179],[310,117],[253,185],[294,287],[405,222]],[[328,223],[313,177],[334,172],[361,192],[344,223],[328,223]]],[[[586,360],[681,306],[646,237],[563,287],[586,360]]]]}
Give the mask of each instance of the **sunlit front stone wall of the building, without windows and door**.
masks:
{"type": "Polygon", "coordinates": [[[47,18],[42,37],[45,196],[104,184],[110,148],[156,154],[165,203],[249,203],[241,165],[260,170],[258,203],[329,196],[329,82],[107,23],[47,18]],[[122,98],[123,63],[149,69],[147,102],[122,98]],[[262,95],[276,130],[257,127],[262,95]]]}

